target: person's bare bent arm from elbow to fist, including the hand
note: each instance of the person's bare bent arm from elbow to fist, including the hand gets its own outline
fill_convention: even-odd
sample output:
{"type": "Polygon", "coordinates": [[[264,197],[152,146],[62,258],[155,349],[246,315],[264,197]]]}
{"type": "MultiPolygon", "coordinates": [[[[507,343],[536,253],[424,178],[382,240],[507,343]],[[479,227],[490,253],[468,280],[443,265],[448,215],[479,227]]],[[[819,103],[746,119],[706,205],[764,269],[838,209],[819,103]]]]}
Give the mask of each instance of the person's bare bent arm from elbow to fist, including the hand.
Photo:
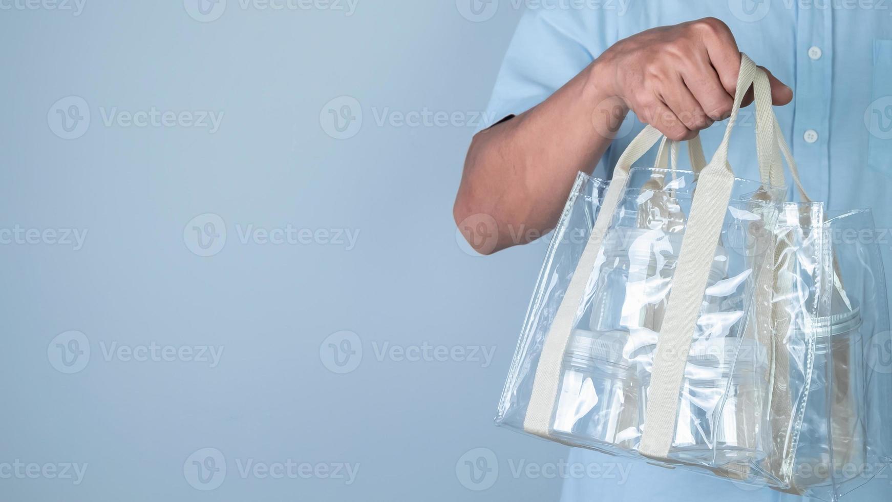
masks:
{"type": "MultiPolygon", "coordinates": [[[[591,173],[628,111],[688,140],[731,112],[739,66],[731,30],[713,18],[617,42],[538,106],[474,137],[453,210],[459,229],[484,254],[544,234],[576,172],[591,173]],[[481,223],[497,238],[470,238],[481,223]]],[[[793,97],[773,77],[772,96],[793,97]]]]}

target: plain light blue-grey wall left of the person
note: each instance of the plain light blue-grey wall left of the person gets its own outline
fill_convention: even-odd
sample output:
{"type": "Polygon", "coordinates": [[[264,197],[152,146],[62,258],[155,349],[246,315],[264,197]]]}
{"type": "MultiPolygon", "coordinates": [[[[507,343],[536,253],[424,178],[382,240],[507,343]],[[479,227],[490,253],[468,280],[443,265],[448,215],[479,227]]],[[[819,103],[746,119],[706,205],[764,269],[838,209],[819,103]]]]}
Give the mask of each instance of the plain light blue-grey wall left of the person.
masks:
{"type": "Polygon", "coordinates": [[[359,0],[351,16],[228,0],[218,20],[199,22],[181,0],[87,0],[79,15],[11,2],[0,10],[0,228],[87,238],[78,251],[46,239],[0,244],[0,465],[74,462],[87,472],[78,486],[0,479],[0,498],[558,498],[558,479],[515,476],[511,465],[566,450],[491,423],[545,247],[482,259],[459,246],[451,205],[473,124],[376,123],[385,109],[482,111],[519,11],[503,3],[471,22],[451,0],[359,0]],[[338,140],[320,114],[345,95],[363,121],[338,140]],[[69,140],[53,122],[67,96],[91,115],[69,140]],[[112,107],[224,116],[213,134],[106,127],[112,107]],[[225,221],[227,243],[202,258],[184,230],[207,213],[225,221]],[[236,225],[359,238],[351,251],[243,244],[236,225]],[[91,350],[75,374],[55,367],[54,338],[69,330],[91,350]],[[363,349],[348,374],[324,364],[326,337],[342,330],[363,349]],[[106,360],[113,342],[224,352],[213,368],[106,360]],[[384,342],[494,346],[495,356],[488,367],[379,361],[373,343],[384,342]],[[216,490],[196,490],[184,474],[205,448],[227,461],[216,490]],[[469,490],[460,459],[481,448],[500,473],[489,490],[469,490]],[[235,462],[249,459],[359,464],[359,473],[349,486],[243,479],[235,462]]]}

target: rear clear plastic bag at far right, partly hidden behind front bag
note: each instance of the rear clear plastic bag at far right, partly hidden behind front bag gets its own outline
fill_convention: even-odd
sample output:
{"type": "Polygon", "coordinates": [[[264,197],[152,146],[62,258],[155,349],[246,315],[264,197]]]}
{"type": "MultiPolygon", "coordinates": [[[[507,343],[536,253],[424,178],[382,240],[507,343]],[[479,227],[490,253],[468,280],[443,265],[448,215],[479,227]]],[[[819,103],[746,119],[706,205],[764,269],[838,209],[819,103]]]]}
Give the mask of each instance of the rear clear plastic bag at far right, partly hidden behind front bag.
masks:
{"type": "Polygon", "coordinates": [[[871,211],[828,217],[834,264],[830,316],[811,326],[817,335],[814,372],[789,491],[836,501],[888,473],[892,464],[892,335],[871,211]]]}

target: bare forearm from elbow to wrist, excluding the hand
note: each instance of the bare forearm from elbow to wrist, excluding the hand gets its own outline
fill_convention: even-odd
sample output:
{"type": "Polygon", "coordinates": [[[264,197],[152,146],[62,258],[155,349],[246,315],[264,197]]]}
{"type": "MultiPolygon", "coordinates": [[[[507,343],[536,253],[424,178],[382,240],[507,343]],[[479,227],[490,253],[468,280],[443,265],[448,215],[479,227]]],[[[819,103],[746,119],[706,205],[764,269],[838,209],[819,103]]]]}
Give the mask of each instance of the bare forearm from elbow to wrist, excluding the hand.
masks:
{"type": "Polygon", "coordinates": [[[591,173],[628,112],[602,78],[593,62],[532,110],[475,136],[454,216],[459,226],[480,214],[495,221],[494,249],[489,240],[477,251],[526,243],[557,224],[576,173],[591,173]]]}

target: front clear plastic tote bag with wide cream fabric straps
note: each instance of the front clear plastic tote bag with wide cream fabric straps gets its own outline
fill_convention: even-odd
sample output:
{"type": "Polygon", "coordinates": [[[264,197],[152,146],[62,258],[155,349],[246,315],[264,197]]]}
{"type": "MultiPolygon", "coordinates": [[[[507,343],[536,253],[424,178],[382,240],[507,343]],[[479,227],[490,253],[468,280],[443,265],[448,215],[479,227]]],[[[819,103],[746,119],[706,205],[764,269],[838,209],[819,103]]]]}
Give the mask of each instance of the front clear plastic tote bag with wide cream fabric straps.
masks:
{"type": "MultiPolygon", "coordinates": [[[[631,169],[662,137],[646,128],[611,182],[577,179],[533,294],[497,424],[789,488],[814,336],[775,336],[786,326],[756,329],[774,321],[764,317],[779,287],[764,283],[776,281],[774,257],[767,259],[760,243],[775,240],[765,236],[775,235],[782,191],[735,178],[727,164],[731,129],[754,81],[764,91],[767,77],[744,55],[729,128],[705,168],[695,140],[694,171],[662,169],[674,148],[665,142],[657,168],[631,169]],[[574,233],[579,238],[566,239],[574,233]]],[[[775,131],[770,99],[767,113],[764,100],[756,104],[762,123],[772,126],[764,130],[775,131]]],[[[771,145],[758,145],[764,172],[776,157],[771,145]]],[[[829,290],[820,285],[819,265],[793,267],[780,286],[804,299],[785,306],[789,318],[820,317],[829,305],[821,300],[829,290]]]]}

